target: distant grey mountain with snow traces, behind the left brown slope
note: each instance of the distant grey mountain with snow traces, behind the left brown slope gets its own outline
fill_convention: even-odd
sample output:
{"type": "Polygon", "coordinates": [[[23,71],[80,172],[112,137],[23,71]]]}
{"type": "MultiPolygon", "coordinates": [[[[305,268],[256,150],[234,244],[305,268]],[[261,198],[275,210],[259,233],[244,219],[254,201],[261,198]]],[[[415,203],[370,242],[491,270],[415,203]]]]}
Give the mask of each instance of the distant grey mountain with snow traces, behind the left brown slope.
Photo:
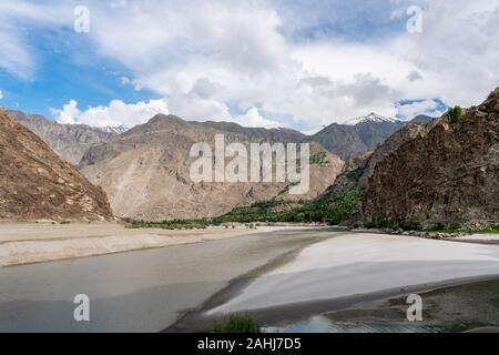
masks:
{"type": "Polygon", "coordinates": [[[60,124],[41,115],[8,111],[10,116],[40,136],[57,153],[77,165],[91,146],[106,142],[124,128],[92,128],[84,124],[60,124]]]}

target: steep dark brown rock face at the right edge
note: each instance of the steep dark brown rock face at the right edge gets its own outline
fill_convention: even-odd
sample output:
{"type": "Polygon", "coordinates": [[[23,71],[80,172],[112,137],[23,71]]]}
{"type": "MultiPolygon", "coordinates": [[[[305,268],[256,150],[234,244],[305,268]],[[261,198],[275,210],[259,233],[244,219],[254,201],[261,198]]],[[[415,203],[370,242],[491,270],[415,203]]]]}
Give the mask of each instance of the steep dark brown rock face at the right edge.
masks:
{"type": "Polygon", "coordinates": [[[499,221],[499,95],[448,124],[401,144],[379,162],[363,205],[364,219],[425,224],[499,221]]]}

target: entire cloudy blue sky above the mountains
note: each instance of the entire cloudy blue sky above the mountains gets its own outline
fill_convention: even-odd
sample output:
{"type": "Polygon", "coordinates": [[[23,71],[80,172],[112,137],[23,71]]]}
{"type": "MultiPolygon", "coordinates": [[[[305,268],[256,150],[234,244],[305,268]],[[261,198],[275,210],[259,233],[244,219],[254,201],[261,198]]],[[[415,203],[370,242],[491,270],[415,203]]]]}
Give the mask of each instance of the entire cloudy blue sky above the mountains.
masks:
{"type": "Polygon", "coordinates": [[[499,0],[1,0],[0,105],[304,132],[438,115],[499,85],[498,34],[499,0]]]}

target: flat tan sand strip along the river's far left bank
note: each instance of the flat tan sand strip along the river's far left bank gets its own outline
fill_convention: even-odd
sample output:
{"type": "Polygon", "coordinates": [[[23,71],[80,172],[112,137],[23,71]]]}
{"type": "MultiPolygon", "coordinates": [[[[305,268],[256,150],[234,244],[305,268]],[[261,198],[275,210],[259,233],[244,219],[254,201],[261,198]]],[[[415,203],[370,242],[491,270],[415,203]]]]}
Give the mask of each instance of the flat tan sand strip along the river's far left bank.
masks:
{"type": "Polygon", "coordinates": [[[0,223],[0,266],[192,244],[289,229],[307,227],[262,226],[257,230],[211,227],[167,231],[125,229],[118,223],[0,223]]]}

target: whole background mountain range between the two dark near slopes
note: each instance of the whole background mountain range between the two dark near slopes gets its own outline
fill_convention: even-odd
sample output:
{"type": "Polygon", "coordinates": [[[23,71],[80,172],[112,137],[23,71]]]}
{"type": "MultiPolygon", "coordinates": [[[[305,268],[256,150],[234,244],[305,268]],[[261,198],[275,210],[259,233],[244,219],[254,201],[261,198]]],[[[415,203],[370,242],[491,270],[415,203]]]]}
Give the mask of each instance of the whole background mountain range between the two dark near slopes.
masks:
{"type": "MultiPolygon", "coordinates": [[[[194,122],[163,114],[130,130],[60,124],[19,111],[9,114],[78,166],[93,184],[102,186],[114,215],[151,221],[217,216],[272,199],[313,200],[335,182],[344,161],[371,151],[406,125],[370,113],[307,136],[291,129],[194,122]],[[246,146],[255,142],[310,142],[313,156],[319,158],[310,166],[310,191],[292,196],[286,183],[193,183],[190,148],[197,142],[213,142],[220,133],[226,136],[227,144],[242,142],[246,146]]],[[[430,118],[417,120],[427,122],[430,118]]]]}

